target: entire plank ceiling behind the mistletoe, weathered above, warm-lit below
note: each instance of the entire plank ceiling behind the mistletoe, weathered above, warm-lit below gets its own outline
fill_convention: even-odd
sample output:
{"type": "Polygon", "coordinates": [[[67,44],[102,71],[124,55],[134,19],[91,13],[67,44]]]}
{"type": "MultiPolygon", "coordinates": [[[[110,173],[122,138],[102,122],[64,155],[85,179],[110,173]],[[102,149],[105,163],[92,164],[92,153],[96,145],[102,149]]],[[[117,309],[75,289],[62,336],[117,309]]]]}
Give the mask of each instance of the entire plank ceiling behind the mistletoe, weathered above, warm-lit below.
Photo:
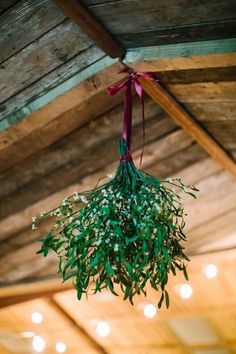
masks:
{"type": "MultiPolygon", "coordinates": [[[[157,72],[165,90],[235,162],[235,2],[84,4],[128,49],[129,60],[139,58],[130,65],[157,72]]],[[[30,353],[31,339],[20,335],[26,331],[44,336],[50,354],[56,341],[67,343],[69,354],[235,353],[236,253],[226,251],[236,247],[235,176],[146,95],[142,168],[200,190],[196,201],[184,199],[193,297],[179,297],[183,279],[177,276],[170,283],[171,309],[153,320],[142,312],[144,303],[157,303],[152,292],[135,307],[106,294],[78,302],[70,284],[55,283],[55,256],[35,254],[50,225],[33,232],[31,218],[115,170],[123,97],[109,97],[106,87],[120,80],[122,66],[49,0],[1,1],[0,33],[0,354],[16,353],[20,345],[18,353],[30,353]],[[211,262],[219,277],[207,280],[203,267],[211,262]],[[40,326],[30,320],[34,310],[45,315],[40,326]],[[187,343],[173,330],[175,319],[199,318],[215,341],[187,343]],[[110,323],[109,337],[96,335],[98,319],[110,323]]],[[[141,148],[135,98],[137,162],[141,148]]]]}

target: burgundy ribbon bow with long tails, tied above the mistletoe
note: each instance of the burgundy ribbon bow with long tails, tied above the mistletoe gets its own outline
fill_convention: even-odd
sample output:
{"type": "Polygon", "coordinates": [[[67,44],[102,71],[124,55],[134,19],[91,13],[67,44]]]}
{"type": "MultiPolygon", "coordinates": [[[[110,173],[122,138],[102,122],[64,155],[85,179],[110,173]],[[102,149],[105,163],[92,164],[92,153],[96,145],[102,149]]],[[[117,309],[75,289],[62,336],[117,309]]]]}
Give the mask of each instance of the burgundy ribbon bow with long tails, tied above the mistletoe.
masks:
{"type": "Polygon", "coordinates": [[[132,132],[132,99],[133,99],[133,88],[137,92],[141,104],[142,104],[142,121],[143,121],[143,146],[140,156],[140,165],[143,159],[143,151],[145,144],[145,115],[144,115],[144,98],[143,98],[143,89],[139,83],[139,78],[144,78],[146,80],[154,80],[152,72],[133,72],[130,68],[122,69],[119,74],[127,73],[128,76],[124,78],[120,83],[112,85],[107,88],[108,94],[113,96],[121,89],[125,88],[125,100],[124,100],[124,122],[123,122],[123,139],[127,143],[127,151],[121,156],[121,162],[132,161],[131,156],[131,132],[132,132]]]}

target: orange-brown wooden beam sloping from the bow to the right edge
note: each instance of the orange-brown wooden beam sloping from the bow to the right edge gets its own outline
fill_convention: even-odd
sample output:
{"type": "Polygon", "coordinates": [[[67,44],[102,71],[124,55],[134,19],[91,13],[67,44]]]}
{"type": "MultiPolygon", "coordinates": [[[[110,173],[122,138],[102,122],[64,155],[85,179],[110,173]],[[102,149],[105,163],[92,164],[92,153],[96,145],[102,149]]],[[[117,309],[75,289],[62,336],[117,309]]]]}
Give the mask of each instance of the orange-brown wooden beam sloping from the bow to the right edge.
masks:
{"type": "Polygon", "coordinates": [[[224,149],[201,127],[181,104],[158,82],[140,79],[143,89],[170,117],[195,139],[226,171],[236,177],[236,164],[224,149]]]}

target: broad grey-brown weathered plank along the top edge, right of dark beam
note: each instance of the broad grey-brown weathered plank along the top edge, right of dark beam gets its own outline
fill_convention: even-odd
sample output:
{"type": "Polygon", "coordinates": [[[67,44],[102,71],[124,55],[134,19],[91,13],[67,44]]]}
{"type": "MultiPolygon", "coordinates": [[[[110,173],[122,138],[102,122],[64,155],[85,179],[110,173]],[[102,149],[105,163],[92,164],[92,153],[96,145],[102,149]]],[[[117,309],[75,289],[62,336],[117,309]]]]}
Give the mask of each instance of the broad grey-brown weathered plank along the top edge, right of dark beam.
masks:
{"type": "Polygon", "coordinates": [[[100,2],[85,0],[95,16],[114,34],[152,31],[178,25],[189,25],[225,19],[235,19],[233,0],[213,0],[199,3],[188,0],[100,2]],[[132,14],[132,20],[130,17],[132,14]]]}

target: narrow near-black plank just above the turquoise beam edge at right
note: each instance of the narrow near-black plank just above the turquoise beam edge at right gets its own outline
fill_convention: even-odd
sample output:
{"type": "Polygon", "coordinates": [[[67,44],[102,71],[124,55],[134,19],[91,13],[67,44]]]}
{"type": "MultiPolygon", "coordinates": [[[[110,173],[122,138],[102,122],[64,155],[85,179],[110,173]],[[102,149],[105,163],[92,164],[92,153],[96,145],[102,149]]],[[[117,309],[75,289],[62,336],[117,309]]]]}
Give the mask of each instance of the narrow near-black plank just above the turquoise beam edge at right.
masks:
{"type": "Polygon", "coordinates": [[[208,41],[223,38],[233,38],[236,32],[236,21],[219,21],[179,25],[168,28],[158,28],[146,32],[117,34],[117,38],[126,48],[148,47],[173,43],[208,41]]]}

